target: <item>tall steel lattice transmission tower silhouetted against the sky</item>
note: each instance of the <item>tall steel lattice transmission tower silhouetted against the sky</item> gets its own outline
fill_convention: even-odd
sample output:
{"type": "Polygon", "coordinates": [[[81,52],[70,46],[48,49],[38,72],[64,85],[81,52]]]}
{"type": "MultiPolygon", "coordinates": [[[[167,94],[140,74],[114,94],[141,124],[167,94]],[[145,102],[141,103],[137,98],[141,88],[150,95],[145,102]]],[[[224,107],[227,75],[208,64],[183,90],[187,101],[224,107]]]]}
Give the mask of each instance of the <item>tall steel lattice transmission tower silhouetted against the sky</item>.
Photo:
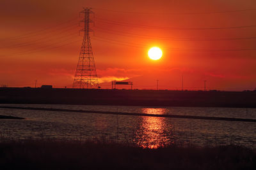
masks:
{"type": "Polygon", "coordinates": [[[92,89],[99,86],[95,62],[93,59],[92,45],[90,40],[90,14],[93,13],[92,8],[84,8],[83,11],[84,32],[83,43],[77,63],[76,74],[74,78],[73,88],[92,89]]]}

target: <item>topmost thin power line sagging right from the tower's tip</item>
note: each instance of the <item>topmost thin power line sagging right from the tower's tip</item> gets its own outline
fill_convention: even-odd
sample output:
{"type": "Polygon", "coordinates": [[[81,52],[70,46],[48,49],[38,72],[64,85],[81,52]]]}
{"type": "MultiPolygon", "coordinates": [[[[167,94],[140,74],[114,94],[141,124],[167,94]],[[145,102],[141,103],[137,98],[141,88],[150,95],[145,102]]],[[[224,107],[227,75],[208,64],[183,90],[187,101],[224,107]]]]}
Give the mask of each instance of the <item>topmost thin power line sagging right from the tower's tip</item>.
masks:
{"type": "Polygon", "coordinates": [[[157,12],[138,12],[138,11],[117,11],[117,10],[107,10],[102,8],[93,8],[95,10],[108,11],[113,13],[132,13],[132,14],[142,14],[142,15],[197,15],[197,14],[214,14],[214,13],[236,13],[244,11],[255,11],[256,8],[248,8],[242,10],[224,10],[224,11],[200,11],[200,12],[173,12],[173,13],[157,13],[157,12]]]}

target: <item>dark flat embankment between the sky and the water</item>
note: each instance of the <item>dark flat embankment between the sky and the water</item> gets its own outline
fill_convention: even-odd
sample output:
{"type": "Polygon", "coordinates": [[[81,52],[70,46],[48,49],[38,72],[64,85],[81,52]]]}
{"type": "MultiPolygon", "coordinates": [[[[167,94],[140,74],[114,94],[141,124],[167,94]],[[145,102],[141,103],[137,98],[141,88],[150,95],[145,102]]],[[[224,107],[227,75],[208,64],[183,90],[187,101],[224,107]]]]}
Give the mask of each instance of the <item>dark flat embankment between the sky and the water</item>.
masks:
{"type": "Polygon", "coordinates": [[[0,103],[256,108],[256,91],[0,88],[0,103]]]}

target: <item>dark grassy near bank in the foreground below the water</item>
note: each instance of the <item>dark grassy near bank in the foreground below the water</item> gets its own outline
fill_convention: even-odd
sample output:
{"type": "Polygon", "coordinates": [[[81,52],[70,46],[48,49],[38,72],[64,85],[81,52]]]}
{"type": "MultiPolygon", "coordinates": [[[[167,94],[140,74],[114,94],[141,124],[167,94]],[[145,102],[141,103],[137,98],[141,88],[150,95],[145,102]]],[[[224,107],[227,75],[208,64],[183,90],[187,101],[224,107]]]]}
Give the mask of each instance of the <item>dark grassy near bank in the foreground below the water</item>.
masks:
{"type": "Polygon", "coordinates": [[[256,152],[242,146],[143,149],[116,143],[0,143],[0,169],[256,169],[256,152]]]}

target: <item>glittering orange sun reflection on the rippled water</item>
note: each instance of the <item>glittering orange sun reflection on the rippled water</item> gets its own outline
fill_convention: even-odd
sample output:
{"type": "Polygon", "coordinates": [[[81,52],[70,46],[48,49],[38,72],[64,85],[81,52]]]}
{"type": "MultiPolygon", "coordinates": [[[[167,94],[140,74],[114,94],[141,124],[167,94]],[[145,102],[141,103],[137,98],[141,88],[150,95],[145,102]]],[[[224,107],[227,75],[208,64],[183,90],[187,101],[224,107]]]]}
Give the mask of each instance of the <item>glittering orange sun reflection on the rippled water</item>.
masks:
{"type": "MultiPolygon", "coordinates": [[[[165,108],[143,108],[142,113],[162,115],[165,108]]],[[[143,148],[159,148],[172,143],[172,124],[166,118],[142,117],[141,127],[136,131],[136,143],[143,148]]]]}

